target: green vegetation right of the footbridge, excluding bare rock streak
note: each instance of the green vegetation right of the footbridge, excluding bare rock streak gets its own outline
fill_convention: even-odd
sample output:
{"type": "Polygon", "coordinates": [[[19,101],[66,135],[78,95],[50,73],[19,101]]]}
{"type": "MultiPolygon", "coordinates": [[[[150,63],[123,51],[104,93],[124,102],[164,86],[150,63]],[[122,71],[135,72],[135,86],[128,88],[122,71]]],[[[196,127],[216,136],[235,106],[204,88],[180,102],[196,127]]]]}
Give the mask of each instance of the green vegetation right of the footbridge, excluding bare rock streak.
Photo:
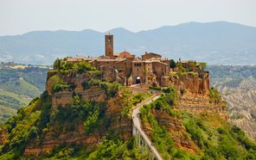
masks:
{"type": "MultiPolygon", "coordinates": [[[[151,140],[163,155],[164,159],[255,159],[256,144],[245,136],[236,126],[231,126],[218,114],[194,115],[180,113],[173,108],[176,102],[175,89],[163,90],[157,101],[145,105],[141,109],[142,122],[150,124],[151,140]],[[155,110],[155,111],[154,111],[155,110]],[[167,126],[160,126],[153,113],[165,111],[170,117],[182,120],[186,128],[184,135],[191,138],[196,145],[197,153],[182,151],[174,144],[173,137],[167,132],[167,126]]],[[[212,89],[213,102],[219,101],[219,96],[212,89]]]]}

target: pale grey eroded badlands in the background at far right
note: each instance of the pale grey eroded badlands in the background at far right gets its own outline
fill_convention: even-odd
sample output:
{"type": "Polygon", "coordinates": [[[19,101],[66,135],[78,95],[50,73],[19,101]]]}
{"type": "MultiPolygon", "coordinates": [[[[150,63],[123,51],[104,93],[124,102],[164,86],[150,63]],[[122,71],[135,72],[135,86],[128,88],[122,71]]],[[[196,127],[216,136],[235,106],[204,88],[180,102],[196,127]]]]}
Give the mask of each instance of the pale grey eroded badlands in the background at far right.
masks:
{"type": "Polygon", "coordinates": [[[253,78],[244,79],[237,87],[215,83],[215,88],[227,102],[230,122],[239,126],[250,138],[256,139],[256,81],[253,78]]]}

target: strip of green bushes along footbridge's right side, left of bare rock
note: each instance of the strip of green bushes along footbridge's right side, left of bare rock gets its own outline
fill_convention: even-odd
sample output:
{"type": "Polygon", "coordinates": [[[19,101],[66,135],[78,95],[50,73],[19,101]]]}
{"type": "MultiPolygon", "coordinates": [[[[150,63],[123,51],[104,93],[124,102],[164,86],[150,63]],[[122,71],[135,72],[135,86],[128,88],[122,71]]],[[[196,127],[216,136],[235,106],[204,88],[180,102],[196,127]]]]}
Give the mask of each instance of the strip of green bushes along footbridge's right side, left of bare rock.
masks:
{"type": "Polygon", "coordinates": [[[151,109],[154,108],[165,110],[173,117],[179,116],[176,111],[172,110],[172,106],[176,101],[176,90],[165,88],[163,91],[165,92],[164,95],[161,95],[155,102],[145,105],[144,108],[140,109],[142,122],[143,124],[146,122],[150,123],[152,143],[161,152],[163,159],[190,157],[188,153],[176,149],[173,139],[170,138],[170,132],[167,132],[165,126],[159,126],[156,118],[151,113],[151,109]]]}

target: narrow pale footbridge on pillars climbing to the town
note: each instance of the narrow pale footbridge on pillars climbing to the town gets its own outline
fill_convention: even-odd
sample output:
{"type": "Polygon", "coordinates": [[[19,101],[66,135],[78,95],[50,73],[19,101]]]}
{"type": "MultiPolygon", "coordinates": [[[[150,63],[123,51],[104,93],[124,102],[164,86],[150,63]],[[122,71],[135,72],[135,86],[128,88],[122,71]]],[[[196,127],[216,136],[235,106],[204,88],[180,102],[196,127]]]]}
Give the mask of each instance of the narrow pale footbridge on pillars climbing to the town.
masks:
{"type": "Polygon", "coordinates": [[[150,141],[150,138],[143,131],[141,122],[139,120],[139,109],[145,104],[149,104],[157,100],[160,95],[154,95],[146,101],[140,103],[132,112],[132,135],[136,138],[136,145],[142,149],[143,154],[147,155],[149,159],[163,160],[155,146],[150,141]]]}

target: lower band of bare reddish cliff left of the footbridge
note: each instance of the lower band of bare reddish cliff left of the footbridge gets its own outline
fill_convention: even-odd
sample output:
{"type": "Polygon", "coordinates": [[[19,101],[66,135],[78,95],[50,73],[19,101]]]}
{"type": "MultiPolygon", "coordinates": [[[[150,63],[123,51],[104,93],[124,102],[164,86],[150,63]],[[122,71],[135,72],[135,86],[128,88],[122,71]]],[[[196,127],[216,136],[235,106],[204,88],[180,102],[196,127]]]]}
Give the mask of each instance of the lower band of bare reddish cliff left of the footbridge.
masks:
{"type": "Polygon", "coordinates": [[[34,155],[35,157],[42,154],[45,155],[52,151],[54,146],[61,144],[85,145],[86,150],[92,150],[102,138],[109,134],[127,140],[132,134],[131,118],[121,114],[123,106],[119,106],[119,98],[115,97],[107,101],[106,115],[99,120],[99,128],[93,130],[93,132],[87,133],[82,121],[79,124],[74,124],[74,131],[65,131],[63,129],[61,132],[59,131],[58,123],[55,123],[52,126],[48,126],[48,131],[42,139],[42,144],[36,144],[35,139],[31,140],[24,151],[24,155],[34,155]]]}

